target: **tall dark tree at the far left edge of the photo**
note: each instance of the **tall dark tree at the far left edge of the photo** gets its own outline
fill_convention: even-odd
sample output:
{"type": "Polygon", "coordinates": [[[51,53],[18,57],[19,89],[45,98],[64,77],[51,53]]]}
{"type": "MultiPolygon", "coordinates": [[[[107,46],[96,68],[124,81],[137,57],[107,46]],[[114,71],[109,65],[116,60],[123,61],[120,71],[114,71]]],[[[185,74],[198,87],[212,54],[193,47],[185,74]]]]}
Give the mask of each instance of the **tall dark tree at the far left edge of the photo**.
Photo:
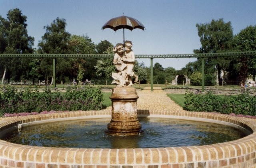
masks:
{"type": "MultiPolygon", "coordinates": [[[[26,19],[27,17],[18,8],[9,10],[7,19],[0,16],[0,53],[22,54],[33,52],[34,38],[28,36],[26,19]]],[[[21,59],[0,59],[0,65],[3,67],[1,69],[4,70],[4,73],[2,72],[4,74],[2,83],[5,75],[8,77],[8,81],[10,77],[14,77],[16,81],[19,80],[27,68],[24,62],[26,61],[21,61],[21,59]]]]}

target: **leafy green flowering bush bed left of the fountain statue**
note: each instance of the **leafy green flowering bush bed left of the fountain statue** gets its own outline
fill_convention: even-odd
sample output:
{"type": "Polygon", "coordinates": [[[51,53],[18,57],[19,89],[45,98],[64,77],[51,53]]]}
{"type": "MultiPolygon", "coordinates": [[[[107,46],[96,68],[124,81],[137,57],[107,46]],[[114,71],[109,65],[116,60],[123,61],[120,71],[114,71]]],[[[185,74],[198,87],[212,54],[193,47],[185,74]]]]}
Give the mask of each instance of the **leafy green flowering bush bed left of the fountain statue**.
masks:
{"type": "Polygon", "coordinates": [[[43,92],[37,88],[3,87],[0,95],[0,116],[4,114],[31,113],[41,111],[100,110],[103,108],[103,93],[99,87],[86,86],[81,89],[67,88],[66,93],[51,92],[45,87],[43,92]]]}

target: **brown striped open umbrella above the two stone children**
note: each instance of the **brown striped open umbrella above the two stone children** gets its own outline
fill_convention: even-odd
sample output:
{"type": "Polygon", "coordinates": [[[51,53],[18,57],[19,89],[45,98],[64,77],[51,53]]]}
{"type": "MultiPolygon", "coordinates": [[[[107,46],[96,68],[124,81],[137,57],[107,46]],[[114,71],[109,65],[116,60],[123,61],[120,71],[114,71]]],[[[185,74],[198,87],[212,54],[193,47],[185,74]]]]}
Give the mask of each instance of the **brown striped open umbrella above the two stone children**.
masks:
{"type": "Polygon", "coordinates": [[[104,26],[102,26],[102,30],[106,28],[113,29],[115,32],[118,29],[123,29],[123,32],[124,29],[129,29],[131,31],[136,28],[142,30],[146,29],[145,26],[143,26],[143,24],[138,20],[124,15],[110,19],[108,22],[106,22],[106,24],[104,24],[104,26]]]}

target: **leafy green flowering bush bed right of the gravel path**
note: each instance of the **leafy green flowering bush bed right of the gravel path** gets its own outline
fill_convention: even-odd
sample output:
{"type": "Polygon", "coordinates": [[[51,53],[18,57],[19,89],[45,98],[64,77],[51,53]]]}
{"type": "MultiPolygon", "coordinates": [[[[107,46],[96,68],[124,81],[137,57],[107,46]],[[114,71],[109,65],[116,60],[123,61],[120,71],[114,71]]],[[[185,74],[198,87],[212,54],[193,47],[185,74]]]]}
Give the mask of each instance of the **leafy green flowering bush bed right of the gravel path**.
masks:
{"type": "Polygon", "coordinates": [[[206,95],[186,92],[184,104],[184,109],[187,111],[256,116],[256,96],[250,96],[244,91],[237,96],[219,96],[212,94],[211,91],[206,95]]]}

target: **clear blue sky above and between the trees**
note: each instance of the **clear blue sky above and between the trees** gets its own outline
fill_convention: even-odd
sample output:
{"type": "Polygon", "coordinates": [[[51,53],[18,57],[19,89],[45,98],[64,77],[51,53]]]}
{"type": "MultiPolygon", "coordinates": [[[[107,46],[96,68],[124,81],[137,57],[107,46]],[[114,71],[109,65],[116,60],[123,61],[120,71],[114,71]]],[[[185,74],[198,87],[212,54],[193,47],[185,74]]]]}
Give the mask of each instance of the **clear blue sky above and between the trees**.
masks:
{"type": "MultiPolygon", "coordinates": [[[[125,30],[125,40],[133,43],[136,54],[188,54],[201,47],[196,24],[222,18],[231,22],[233,34],[256,25],[256,0],[0,0],[0,15],[19,8],[27,16],[28,36],[34,47],[57,17],[64,18],[70,34],[88,36],[94,44],[108,40],[123,43],[123,30],[102,30],[111,18],[129,16],[139,20],[146,30],[125,30]]],[[[137,59],[150,67],[150,59],[137,59]]],[[[185,67],[196,58],[153,59],[162,67],[185,67]]]]}

